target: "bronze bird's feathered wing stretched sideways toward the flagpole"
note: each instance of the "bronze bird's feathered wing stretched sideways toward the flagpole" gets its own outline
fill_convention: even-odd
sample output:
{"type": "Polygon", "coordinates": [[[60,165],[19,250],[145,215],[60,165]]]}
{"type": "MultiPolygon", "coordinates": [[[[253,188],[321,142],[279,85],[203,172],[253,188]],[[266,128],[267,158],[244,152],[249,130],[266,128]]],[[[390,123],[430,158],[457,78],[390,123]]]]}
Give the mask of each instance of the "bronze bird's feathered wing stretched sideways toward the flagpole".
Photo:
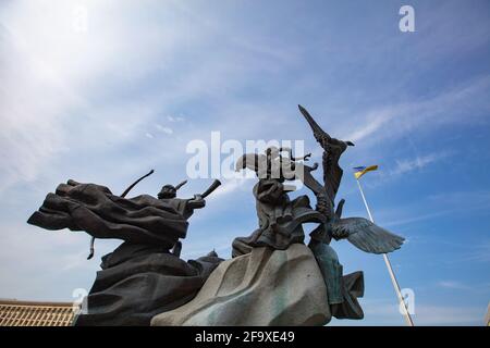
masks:
{"type": "Polygon", "coordinates": [[[387,253],[400,249],[405,238],[364,217],[341,219],[333,224],[334,238],[347,238],[355,247],[370,253],[387,253]]]}

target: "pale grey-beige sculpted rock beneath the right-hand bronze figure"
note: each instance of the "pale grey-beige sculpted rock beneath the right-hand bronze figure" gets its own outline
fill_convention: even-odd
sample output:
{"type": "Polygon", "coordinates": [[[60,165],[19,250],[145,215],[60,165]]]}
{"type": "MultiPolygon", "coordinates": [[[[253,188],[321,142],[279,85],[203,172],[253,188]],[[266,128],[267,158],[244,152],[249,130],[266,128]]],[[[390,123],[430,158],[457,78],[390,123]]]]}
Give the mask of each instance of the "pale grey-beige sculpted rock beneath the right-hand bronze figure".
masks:
{"type": "Polygon", "coordinates": [[[188,303],[151,325],[324,325],[327,289],[310,249],[254,248],[222,262],[188,303]]]}

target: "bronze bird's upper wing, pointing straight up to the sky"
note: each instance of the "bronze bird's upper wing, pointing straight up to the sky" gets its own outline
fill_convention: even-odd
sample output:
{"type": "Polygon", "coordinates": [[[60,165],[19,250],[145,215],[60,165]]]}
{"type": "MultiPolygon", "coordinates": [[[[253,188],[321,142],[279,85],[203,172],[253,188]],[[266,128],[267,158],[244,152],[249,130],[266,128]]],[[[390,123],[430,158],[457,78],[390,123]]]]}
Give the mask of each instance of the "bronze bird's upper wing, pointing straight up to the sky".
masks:
{"type": "Polygon", "coordinates": [[[324,132],[305,108],[302,105],[298,105],[298,108],[311,127],[315,139],[323,149],[322,166],[324,189],[328,198],[333,203],[336,191],[339,190],[342,175],[344,173],[339,165],[339,159],[345,151],[346,145],[343,141],[332,138],[327,132],[324,132]]]}

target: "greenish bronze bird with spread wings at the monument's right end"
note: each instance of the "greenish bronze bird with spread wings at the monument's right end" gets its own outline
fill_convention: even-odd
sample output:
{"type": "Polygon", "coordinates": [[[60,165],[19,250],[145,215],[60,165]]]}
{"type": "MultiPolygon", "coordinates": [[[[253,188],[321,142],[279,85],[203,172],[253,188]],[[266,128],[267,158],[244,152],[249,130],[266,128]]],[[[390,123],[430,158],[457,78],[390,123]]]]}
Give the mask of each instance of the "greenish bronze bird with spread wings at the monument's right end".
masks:
{"type": "Polygon", "coordinates": [[[334,211],[335,196],[343,175],[339,160],[347,146],[354,146],[354,144],[330,137],[305,108],[302,105],[298,105],[298,108],[310,125],[315,139],[323,149],[324,186],[314,192],[317,197],[317,211],[324,216],[324,222],[311,232],[308,246],[314,252],[323,275],[332,315],[338,319],[362,319],[364,313],[357,302],[357,297],[362,297],[364,294],[363,272],[354,272],[343,276],[343,268],[335,251],[330,246],[330,241],[332,238],[335,240],[346,238],[363,251],[385,253],[399,249],[404,238],[364,217],[341,219],[344,199],[340,200],[334,211]]]}

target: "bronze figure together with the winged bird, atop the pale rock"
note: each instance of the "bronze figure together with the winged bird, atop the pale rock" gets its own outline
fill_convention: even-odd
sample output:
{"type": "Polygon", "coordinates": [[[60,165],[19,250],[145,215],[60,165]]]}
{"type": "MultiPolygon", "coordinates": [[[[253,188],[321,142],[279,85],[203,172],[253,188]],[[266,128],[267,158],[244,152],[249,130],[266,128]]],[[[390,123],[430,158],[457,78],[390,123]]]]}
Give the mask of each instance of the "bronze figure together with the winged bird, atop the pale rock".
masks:
{"type": "MultiPolygon", "coordinates": [[[[347,147],[354,144],[330,137],[304,108],[299,107],[299,110],[323,149],[323,184],[311,175],[318,164],[307,166],[297,162],[291,149],[271,147],[265,154],[244,154],[238,159],[236,170],[252,169],[259,178],[253,190],[259,228],[248,237],[235,238],[232,254],[246,254],[258,247],[284,250],[293,244],[303,244],[303,224],[318,223],[310,233],[308,247],[321,271],[330,312],[338,319],[362,319],[364,313],[357,298],[364,295],[363,272],[344,275],[330,241],[346,238],[364,251],[380,253],[400,248],[403,238],[363,217],[342,219],[344,200],[334,210],[335,195],[343,174],[339,160],[347,147]],[[282,157],[282,151],[289,156],[282,157]],[[315,209],[309,206],[306,195],[294,200],[289,198],[290,189],[285,182],[293,179],[301,179],[315,194],[315,209]]],[[[302,159],[308,158],[309,154],[302,159]]]]}

